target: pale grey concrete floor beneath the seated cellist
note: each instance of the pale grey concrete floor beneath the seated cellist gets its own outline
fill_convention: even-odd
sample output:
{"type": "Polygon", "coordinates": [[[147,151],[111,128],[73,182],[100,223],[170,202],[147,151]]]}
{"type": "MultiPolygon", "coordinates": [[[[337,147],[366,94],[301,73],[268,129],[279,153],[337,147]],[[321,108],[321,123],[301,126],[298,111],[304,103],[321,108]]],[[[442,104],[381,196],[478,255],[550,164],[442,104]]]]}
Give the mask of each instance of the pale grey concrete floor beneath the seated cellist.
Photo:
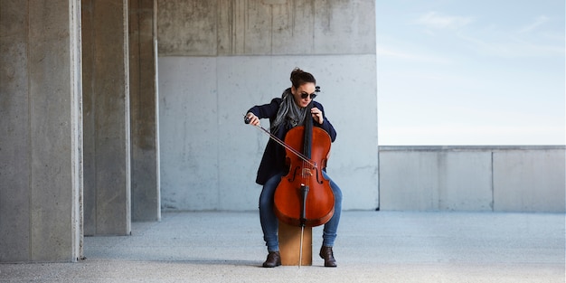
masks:
{"type": "MultiPolygon", "coordinates": [[[[165,212],[87,237],[78,263],[0,264],[0,282],[565,281],[564,214],[343,212],[338,268],[263,269],[258,212],[165,212]]],[[[314,255],[322,227],[313,229],[314,255]]]]}

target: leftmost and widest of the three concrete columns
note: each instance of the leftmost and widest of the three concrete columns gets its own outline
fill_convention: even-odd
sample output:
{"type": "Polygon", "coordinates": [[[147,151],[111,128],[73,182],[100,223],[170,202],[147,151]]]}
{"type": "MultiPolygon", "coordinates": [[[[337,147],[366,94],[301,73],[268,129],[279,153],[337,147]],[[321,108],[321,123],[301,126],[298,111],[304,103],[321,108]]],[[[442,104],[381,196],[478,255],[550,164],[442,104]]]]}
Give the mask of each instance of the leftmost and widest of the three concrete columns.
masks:
{"type": "Polygon", "coordinates": [[[0,0],[0,261],[82,257],[80,1],[0,0]]]}

